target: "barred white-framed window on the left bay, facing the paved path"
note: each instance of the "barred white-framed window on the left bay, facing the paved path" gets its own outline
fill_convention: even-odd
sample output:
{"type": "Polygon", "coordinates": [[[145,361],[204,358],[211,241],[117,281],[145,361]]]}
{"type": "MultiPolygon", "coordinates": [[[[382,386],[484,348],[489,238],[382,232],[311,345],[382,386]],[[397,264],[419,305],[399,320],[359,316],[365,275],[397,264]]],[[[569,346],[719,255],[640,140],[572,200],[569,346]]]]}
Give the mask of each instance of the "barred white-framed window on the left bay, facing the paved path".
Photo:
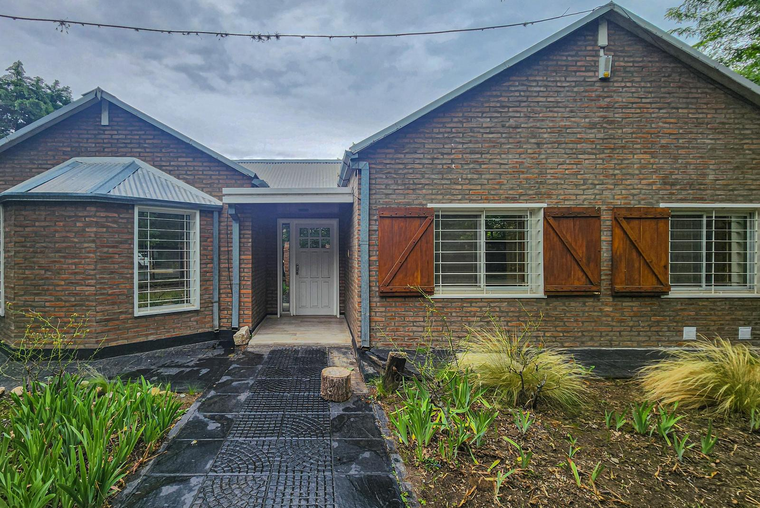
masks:
{"type": "Polygon", "coordinates": [[[199,308],[198,211],[135,207],[135,314],[199,308]]]}

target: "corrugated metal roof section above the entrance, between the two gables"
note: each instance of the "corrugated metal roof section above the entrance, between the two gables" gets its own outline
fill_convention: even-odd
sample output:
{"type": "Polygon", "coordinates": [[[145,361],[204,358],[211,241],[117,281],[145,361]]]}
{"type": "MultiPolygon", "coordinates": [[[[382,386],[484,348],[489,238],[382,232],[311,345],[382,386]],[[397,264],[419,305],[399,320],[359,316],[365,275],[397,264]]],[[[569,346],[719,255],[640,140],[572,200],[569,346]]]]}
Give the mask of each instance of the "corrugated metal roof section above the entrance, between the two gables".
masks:
{"type": "Polygon", "coordinates": [[[247,159],[236,161],[275,189],[337,187],[340,159],[247,159]]]}

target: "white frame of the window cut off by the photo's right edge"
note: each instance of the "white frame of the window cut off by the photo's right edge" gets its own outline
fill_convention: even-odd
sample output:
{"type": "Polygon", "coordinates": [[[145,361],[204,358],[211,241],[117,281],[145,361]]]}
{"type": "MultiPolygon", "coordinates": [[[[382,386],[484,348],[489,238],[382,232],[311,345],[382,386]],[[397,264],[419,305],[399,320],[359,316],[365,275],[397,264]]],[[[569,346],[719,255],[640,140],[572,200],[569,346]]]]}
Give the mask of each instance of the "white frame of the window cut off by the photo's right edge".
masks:
{"type": "MultiPolygon", "coordinates": [[[[752,242],[751,252],[754,253],[754,284],[747,289],[716,289],[677,287],[671,285],[670,293],[663,298],[760,298],[760,204],[752,203],[661,203],[660,207],[670,208],[671,220],[673,215],[705,214],[705,213],[752,213],[754,214],[754,235],[748,241],[752,242]]],[[[670,229],[670,228],[669,228],[670,229]]],[[[671,255],[670,231],[668,232],[668,258],[671,255]]],[[[670,259],[669,259],[670,263],[670,259]]]]}

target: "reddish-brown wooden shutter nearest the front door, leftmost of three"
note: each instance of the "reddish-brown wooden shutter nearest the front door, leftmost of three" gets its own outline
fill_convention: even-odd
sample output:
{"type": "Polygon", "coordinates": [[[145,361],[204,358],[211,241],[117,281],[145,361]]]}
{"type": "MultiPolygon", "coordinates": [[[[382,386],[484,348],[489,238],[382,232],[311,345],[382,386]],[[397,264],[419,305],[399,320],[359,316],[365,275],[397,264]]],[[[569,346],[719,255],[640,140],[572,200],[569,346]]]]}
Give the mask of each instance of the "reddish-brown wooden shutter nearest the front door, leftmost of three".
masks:
{"type": "Polygon", "coordinates": [[[432,293],[434,286],[434,210],[422,207],[381,208],[378,217],[377,265],[380,294],[432,293]]]}

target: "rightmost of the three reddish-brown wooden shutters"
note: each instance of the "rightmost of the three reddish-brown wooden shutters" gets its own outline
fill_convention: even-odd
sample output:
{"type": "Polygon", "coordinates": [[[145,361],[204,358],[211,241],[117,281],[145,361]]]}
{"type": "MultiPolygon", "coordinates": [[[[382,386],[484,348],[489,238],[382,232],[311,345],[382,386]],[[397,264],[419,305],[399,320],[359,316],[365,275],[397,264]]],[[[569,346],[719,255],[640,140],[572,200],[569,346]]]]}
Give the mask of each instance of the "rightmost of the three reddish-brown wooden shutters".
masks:
{"type": "Polygon", "coordinates": [[[670,210],[615,208],[612,215],[613,293],[669,292],[670,210]]]}

